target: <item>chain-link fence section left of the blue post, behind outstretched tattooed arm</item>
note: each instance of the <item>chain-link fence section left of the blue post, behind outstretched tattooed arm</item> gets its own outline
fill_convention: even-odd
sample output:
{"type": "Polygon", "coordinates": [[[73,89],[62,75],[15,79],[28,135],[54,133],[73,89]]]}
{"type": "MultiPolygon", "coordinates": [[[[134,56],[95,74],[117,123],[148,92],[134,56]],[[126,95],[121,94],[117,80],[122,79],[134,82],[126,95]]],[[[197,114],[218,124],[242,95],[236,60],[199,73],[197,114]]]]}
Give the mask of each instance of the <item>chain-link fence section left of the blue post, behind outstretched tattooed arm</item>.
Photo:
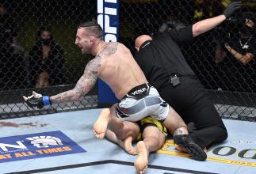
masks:
{"type": "Polygon", "coordinates": [[[84,100],[32,111],[22,96],[74,88],[92,59],[75,46],[82,21],[96,17],[96,1],[1,1],[0,115],[10,117],[97,107],[97,90],[84,100]]]}

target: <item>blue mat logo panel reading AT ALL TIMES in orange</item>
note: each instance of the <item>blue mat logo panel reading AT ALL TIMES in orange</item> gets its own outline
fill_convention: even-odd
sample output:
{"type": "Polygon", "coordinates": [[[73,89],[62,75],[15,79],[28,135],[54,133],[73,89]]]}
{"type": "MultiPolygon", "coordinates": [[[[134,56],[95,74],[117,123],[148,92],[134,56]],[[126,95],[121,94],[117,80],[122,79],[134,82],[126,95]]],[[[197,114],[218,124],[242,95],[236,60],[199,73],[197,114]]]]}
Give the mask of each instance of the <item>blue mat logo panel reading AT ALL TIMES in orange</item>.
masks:
{"type": "Polygon", "coordinates": [[[0,138],[0,163],[86,152],[61,131],[0,138]]]}

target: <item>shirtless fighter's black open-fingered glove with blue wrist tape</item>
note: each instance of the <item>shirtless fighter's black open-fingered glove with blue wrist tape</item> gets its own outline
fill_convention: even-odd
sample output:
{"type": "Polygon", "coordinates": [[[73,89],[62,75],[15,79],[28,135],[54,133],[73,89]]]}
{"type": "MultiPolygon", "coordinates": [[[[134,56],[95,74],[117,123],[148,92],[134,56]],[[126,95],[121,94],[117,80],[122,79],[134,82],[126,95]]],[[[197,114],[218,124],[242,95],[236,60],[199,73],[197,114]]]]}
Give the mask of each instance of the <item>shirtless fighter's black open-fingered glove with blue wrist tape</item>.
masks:
{"type": "Polygon", "coordinates": [[[43,108],[51,103],[50,96],[42,96],[40,93],[28,97],[26,103],[30,108],[43,108]]]}

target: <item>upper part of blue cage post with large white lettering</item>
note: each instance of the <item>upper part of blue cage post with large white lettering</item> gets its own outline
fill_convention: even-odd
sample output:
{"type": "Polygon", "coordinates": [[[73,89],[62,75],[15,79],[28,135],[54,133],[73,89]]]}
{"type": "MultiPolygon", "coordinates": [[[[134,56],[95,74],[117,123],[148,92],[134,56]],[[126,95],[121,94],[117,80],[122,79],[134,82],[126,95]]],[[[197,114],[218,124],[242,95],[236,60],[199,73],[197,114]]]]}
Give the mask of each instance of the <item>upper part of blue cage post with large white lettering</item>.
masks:
{"type": "Polygon", "coordinates": [[[117,0],[97,0],[97,23],[103,29],[105,42],[117,42],[118,11],[117,0]]]}

